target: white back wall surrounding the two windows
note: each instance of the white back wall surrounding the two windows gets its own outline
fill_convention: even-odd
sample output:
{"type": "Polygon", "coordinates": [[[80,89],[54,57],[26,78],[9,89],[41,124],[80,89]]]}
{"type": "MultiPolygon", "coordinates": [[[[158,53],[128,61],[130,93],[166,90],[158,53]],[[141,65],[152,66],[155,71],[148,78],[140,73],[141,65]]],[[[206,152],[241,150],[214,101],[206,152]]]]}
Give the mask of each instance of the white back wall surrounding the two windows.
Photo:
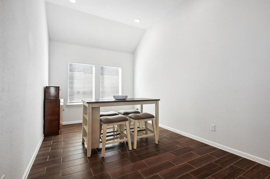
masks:
{"type": "MultiPolygon", "coordinates": [[[[49,85],[60,86],[60,96],[67,104],[67,64],[68,61],[88,62],[96,65],[95,96],[99,98],[99,64],[122,67],[122,95],[133,97],[133,55],[91,47],[49,42],[49,85]]],[[[82,120],[82,107],[64,106],[64,124],[82,120]]],[[[101,107],[100,111],[133,109],[133,106],[101,107]]]]}

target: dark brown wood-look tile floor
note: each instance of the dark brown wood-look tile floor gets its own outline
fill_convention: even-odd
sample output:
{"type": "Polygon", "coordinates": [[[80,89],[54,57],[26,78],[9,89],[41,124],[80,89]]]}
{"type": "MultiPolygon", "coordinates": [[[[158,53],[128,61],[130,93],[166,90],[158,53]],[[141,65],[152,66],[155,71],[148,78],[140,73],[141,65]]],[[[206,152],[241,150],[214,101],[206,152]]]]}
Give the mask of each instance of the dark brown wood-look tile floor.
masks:
{"type": "Polygon", "coordinates": [[[270,179],[268,166],[163,128],[159,144],[153,137],[140,138],[132,151],[127,143],[110,144],[105,158],[101,147],[89,158],[86,151],[82,124],[64,125],[61,135],[44,138],[28,178],[270,179]]]}

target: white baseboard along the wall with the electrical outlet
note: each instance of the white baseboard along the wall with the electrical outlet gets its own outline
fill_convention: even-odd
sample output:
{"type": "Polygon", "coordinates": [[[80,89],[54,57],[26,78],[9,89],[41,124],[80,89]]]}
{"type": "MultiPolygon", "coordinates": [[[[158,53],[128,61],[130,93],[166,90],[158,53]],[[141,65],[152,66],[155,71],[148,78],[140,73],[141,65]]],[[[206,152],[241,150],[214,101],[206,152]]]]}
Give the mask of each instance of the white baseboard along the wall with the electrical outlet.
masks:
{"type": "Polygon", "coordinates": [[[247,158],[249,160],[252,160],[252,161],[255,161],[255,162],[258,162],[258,163],[261,163],[263,165],[266,165],[266,166],[269,166],[270,167],[270,161],[268,160],[265,160],[263,158],[259,158],[259,157],[256,157],[254,155],[250,155],[250,154],[247,154],[245,152],[241,152],[239,150],[236,150],[236,149],[232,149],[230,147],[227,147],[227,146],[224,146],[224,145],[221,145],[219,143],[215,143],[215,142],[212,142],[212,141],[208,141],[206,139],[203,139],[203,138],[200,138],[200,137],[197,137],[195,135],[191,135],[191,134],[188,134],[186,132],[182,132],[180,130],[177,130],[177,129],[173,129],[171,127],[168,127],[168,126],[165,126],[165,125],[162,125],[162,124],[159,124],[160,127],[163,127],[165,129],[168,129],[172,132],[176,132],[178,134],[181,134],[181,135],[184,135],[186,137],[189,137],[189,138],[192,138],[192,139],[195,139],[197,141],[200,141],[200,142],[203,142],[203,143],[206,143],[206,144],[209,144],[211,146],[214,146],[216,148],[219,148],[219,149],[222,149],[222,150],[225,150],[227,152],[230,152],[230,153],[233,153],[235,155],[239,155],[241,157],[244,157],[244,158],[247,158]]]}

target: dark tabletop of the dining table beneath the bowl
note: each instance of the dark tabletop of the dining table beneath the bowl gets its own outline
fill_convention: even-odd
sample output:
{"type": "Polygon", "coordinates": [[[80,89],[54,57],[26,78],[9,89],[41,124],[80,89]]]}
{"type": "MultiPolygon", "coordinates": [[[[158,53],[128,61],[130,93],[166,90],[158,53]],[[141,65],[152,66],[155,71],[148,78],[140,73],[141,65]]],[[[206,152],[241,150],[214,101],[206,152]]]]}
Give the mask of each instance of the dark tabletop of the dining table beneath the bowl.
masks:
{"type": "Polygon", "coordinates": [[[134,101],[160,101],[160,99],[150,98],[126,98],[125,100],[112,99],[83,99],[83,102],[89,103],[114,103],[114,102],[134,102],[134,101]]]}

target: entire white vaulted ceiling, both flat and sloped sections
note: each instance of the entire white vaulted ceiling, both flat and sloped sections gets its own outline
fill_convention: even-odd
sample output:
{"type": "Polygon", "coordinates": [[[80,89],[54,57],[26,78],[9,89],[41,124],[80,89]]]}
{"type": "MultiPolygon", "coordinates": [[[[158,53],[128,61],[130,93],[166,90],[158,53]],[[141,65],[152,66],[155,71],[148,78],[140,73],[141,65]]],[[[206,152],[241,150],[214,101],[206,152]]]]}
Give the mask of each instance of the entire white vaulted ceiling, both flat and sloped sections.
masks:
{"type": "Polygon", "coordinates": [[[49,39],[133,54],[145,30],[181,2],[47,0],[49,39]]]}

